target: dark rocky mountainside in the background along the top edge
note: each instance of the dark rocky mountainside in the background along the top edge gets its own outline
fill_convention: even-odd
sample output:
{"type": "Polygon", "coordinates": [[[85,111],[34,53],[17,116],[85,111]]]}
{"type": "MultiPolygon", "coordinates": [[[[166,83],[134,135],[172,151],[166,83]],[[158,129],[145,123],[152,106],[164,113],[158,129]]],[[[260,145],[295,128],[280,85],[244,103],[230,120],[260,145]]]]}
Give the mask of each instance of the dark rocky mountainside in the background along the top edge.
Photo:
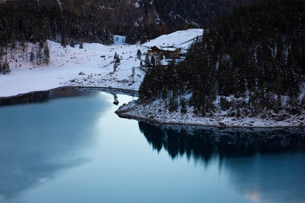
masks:
{"type": "Polygon", "coordinates": [[[160,25],[162,34],[199,28],[234,8],[255,0],[0,0],[8,7],[57,7],[79,16],[93,15],[111,23],[115,33],[139,24],[160,25]]]}

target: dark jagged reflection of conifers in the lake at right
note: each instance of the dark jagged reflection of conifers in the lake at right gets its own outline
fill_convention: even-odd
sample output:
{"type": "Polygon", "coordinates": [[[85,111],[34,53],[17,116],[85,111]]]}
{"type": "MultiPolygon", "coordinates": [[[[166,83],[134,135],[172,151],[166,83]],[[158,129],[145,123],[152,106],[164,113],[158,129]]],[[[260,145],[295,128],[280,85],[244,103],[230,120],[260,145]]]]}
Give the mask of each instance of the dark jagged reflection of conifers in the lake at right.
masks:
{"type": "Polygon", "coordinates": [[[209,162],[212,156],[244,157],[304,149],[305,129],[219,129],[160,126],[139,122],[139,129],[153,149],[164,148],[172,157],[209,162]]]}

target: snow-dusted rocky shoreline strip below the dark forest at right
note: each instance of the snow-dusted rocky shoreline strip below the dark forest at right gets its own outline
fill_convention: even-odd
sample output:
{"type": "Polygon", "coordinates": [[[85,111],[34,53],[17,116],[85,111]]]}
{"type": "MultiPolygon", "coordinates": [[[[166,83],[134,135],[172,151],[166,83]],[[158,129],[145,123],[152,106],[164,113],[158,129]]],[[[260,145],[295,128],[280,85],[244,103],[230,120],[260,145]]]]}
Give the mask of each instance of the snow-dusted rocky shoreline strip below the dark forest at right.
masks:
{"type": "Polygon", "coordinates": [[[193,113],[190,109],[187,113],[180,111],[170,112],[164,103],[155,101],[149,105],[137,104],[132,101],[121,106],[116,112],[121,117],[133,118],[139,120],[152,121],[157,124],[179,124],[191,126],[208,126],[208,127],[246,127],[246,128],[263,128],[263,127],[305,127],[305,115],[270,116],[269,118],[260,117],[228,117],[214,115],[211,117],[201,117],[193,113]]]}

